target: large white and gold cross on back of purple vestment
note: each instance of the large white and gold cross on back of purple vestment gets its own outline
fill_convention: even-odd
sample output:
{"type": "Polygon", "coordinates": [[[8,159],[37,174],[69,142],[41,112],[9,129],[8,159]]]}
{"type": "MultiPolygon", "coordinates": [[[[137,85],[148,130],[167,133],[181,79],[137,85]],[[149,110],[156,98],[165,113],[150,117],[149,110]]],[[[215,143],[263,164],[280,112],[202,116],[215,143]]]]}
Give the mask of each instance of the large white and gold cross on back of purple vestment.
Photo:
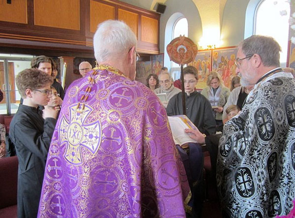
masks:
{"type": "Polygon", "coordinates": [[[97,120],[86,124],[85,121],[93,111],[88,105],[82,112],[76,110],[77,104],[69,107],[69,121],[63,116],[59,124],[60,144],[66,143],[64,158],[71,164],[82,164],[81,146],[95,154],[101,142],[101,124],[97,120]]]}

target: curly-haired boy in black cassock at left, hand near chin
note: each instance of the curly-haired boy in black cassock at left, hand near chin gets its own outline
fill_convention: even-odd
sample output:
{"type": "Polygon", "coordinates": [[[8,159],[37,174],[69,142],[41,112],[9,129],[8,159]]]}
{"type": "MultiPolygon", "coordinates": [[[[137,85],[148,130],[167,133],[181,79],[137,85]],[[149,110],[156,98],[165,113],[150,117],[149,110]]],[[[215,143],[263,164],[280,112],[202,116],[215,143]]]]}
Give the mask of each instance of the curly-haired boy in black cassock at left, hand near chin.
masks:
{"type": "Polygon", "coordinates": [[[58,113],[54,108],[46,107],[52,82],[50,75],[38,69],[26,69],[16,77],[24,101],[10,123],[9,137],[19,161],[18,218],[37,217],[44,167],[58,113]],[[38,105],[45,106],[43,115],[40,115],[38,105]]]}

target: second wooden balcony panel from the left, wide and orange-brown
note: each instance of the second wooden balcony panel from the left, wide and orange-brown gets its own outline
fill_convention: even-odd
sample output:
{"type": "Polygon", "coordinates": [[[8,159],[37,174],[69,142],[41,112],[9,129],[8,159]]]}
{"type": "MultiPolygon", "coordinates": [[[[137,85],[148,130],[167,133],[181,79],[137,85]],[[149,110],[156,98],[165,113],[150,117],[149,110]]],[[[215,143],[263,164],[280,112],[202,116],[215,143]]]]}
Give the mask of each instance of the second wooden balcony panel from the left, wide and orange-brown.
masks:
{"type": "Polygon", "coordinates": [[[80,30],[80,0],[34,0],[35,25],[80,30]]]}

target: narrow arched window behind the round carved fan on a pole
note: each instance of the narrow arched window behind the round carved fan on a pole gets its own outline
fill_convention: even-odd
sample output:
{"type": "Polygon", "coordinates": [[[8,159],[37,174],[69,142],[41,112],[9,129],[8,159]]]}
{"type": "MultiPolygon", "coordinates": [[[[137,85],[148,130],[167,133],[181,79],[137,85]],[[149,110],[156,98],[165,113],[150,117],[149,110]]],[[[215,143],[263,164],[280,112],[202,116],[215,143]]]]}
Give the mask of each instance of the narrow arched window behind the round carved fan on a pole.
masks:
{"type": "MultiPolygon", "coordinates": [[[[188,24],[184,17],[178,18],[174,23],[172,39],[179,37],[179,35],[188,36],[188,24]]],[[[171,76],[174,80],[180,78],[180,66],[173,61],[171,61],[171,76]]]]}

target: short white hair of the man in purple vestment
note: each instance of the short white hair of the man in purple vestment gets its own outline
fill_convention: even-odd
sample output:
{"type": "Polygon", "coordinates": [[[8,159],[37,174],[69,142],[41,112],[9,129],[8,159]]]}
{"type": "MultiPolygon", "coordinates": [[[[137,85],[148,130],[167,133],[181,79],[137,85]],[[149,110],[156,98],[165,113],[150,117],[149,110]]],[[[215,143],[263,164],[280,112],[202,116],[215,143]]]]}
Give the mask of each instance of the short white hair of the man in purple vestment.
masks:
{"type": "Polygon", "coordinates": [[[124,22],[108,20],[99,24],[93,37],[94,56],[103,63],[137,45],[133,31],[124,22]]]}

